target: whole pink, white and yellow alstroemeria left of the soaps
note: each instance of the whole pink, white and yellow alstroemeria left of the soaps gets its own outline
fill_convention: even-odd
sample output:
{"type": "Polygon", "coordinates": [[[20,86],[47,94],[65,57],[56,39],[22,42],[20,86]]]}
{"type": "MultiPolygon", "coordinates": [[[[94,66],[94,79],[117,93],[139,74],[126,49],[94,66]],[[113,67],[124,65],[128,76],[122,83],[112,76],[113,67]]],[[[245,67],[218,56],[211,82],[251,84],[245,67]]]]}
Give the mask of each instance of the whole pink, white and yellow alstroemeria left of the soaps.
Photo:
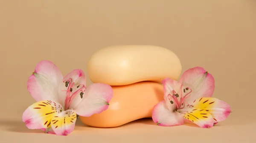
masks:
{"type": "Polygon", "coordinates": [[[27,81],[27,89],[37,101],[23,113],[22,120],[29,129],[67,135],[76,123],[76,114],[89,117],[108,109],[113,97],[111,86],[94,83],[85,86],[85,75],[75,69],[62,76],[50,61],[41,61],[27,81]]]}

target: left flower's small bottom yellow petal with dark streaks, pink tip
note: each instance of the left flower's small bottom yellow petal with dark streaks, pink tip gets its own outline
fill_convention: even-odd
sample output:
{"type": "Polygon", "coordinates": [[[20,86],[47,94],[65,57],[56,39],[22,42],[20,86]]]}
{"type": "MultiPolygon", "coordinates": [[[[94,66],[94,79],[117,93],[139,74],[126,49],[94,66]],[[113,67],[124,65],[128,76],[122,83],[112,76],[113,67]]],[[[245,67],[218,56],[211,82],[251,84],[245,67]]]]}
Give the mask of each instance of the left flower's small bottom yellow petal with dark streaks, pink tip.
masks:
{"type": "Polygon", "coordinates": [[[66,110],[52,117],[51,126],[55,134],[68,135],[73,132],[76,124],[76,112],[66,110]]]}

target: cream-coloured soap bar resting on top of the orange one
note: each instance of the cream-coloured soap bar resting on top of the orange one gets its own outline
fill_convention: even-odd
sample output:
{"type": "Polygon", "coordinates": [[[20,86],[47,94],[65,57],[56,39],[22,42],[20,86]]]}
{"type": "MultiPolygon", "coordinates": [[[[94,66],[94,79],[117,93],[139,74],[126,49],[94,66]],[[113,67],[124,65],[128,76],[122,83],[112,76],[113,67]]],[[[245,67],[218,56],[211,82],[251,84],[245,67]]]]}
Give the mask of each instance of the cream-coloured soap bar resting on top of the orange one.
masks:
{"type": "Polygon", "coordinates": [[[158,46],[109,46],[97,51],[87,64],[93,83],[122,86],[140,81],[177,80],[181,72],[179,58],[158,46]]]}

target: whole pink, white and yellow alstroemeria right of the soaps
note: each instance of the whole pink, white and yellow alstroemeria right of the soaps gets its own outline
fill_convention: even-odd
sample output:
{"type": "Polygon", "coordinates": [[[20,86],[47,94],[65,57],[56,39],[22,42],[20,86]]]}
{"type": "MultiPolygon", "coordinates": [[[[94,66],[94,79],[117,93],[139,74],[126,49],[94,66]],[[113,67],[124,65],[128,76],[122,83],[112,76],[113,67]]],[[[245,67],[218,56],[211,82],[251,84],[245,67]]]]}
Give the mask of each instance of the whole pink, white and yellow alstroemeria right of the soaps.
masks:
{"type": "Polygon", "coordinates": [[[152,112],[159,126],[183,125],[184,120],[189,120],[201,128],[210,128],[231,112],[227,103],[211,97],[214,79],[202,67],[188,69],[179,81],[166,78],[162,83],[164,100],[152,112]]]}

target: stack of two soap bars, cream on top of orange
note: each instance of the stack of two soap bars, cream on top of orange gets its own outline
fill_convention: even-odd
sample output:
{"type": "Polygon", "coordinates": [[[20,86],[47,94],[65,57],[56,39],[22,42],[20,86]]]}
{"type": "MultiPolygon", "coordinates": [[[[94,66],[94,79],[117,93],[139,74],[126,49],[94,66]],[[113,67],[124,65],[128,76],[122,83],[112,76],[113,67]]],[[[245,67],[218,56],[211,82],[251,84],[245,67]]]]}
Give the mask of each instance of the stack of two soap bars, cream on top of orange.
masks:
{"type": "Polygon", "coordinates": [[[116,127],[140,118],[151,117],[154,105],[163,100],[161,80],[177,80],[179,58],[158,46],[110,46],[97,51],[87,64],[93,83],[113,88],[108,109],[81,121],[94,127],[116,127]]]}

